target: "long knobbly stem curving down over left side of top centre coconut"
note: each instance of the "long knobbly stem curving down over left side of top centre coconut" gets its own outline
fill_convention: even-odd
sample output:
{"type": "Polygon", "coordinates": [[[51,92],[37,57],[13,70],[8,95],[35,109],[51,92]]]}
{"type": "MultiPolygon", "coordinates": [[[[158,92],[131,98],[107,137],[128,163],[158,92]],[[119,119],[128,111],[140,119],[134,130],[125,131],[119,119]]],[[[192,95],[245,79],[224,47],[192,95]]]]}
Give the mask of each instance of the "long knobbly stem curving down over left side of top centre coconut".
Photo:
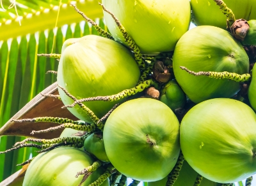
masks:
{"type": "Polygon", "coordinates": [[[131,38],[131,36],[129,36],[129,34],[127,33],[127,31],[125,30],[124,26],[120,23],[120,21],[115,17],[115,15],[113,15],[113,13],[111,13],[109,10],[107,10],[105,8],[105,6],[101,3],[99,3],[103,10],[106,11],[107,13],[109,13],[109,15],[111,15],[111,17],[113,17],[113,19],[116,22],[116,25],[118,26],[118,28],[120,29],[122,35],[124,36],[125,41],[128,43],[129,47],[131,48],[131,50],[134,52],[134,57],[136,62],[139,65],[139,68],[141,70],[144,70],[146,68],[146,64],[145,61],[143,61],[142,55],[140,53],[140,48],[136,45],[136,43],[134,42],[134,40],[131,38]]]}

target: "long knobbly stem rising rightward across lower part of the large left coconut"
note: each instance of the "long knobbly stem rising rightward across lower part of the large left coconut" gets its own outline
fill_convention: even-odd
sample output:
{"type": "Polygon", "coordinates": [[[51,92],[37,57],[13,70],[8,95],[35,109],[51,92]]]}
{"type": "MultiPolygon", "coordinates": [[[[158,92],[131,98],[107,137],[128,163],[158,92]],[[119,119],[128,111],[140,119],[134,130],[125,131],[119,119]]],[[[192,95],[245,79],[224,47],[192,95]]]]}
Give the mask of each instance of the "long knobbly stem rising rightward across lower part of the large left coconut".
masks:
{"type": "Polygon", "coordinates": [[[82,103],[84,101],[117,101],[127,96],[132,96],[137,94],[138,92],[142,92],[143,90],[147,89],[151,86],[157,86],[157,83],[153,80],[146,80],[143,83],[140,83],[140,85],[137,85],[136,87],[133,87],[132,89],[126,89],[118,94],[114,94],[111,96],[97,96],[97,97],[88,97],[84,99],[79,99],[75,101],[73,104],[66,105],[63,108],[70,108],[74,107],[78,103],[82,103]]]}

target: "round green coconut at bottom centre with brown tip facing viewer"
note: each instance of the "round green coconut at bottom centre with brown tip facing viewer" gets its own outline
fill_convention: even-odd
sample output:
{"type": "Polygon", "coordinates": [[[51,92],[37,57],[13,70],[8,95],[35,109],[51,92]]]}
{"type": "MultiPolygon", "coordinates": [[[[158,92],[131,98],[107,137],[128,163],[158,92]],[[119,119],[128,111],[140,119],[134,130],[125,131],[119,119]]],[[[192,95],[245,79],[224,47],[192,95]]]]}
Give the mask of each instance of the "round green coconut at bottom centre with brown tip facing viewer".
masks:
{"type": "Polygon", "coordinates": [[[177,162],[179,121],[161,101],[132,99],[109,115],[103,140],[109,161],[120,173],[153,182],[167,176],[177,162]]]}

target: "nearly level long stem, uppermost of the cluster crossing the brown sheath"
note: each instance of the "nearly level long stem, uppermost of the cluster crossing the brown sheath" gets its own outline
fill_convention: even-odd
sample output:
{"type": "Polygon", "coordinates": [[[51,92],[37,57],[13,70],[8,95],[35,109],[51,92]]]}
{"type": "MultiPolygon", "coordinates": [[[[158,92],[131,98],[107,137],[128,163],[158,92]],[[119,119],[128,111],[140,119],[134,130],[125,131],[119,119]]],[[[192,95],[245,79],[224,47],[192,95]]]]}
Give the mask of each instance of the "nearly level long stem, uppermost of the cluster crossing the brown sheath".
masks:
{"type": "Polygon", "coordinates": [[[56,124],[79,124],[79,122],[70,120],[68,118],[59,118],[59,117],[37,117],[37,118],[26,118],[21,120],[12,120],[13,122],[51,122],[56,124]]]}

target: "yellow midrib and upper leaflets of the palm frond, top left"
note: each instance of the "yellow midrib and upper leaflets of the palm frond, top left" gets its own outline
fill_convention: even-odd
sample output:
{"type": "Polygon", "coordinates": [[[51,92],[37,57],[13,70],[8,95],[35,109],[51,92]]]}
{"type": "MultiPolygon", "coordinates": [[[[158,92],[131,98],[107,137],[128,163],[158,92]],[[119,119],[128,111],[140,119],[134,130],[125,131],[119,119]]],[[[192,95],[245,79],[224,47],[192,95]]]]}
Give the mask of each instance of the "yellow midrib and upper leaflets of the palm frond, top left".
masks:
{"type": "MultiPolygon", "coordinates": [[[[12,1],[3,1],[3,6],[6,9],[12,1]],[[4,3],[5,2],[5,3],[4,3]]],[[[0,41],[9,38],[17,38],[17,36],[25,36],[28,33],[37,31],[45,31],[45,29],[53,29],[56,26],[56,18],[58,16],[57,27],[74,22],[81,22],[83,17],[79,15],[71,3],[76,3],[77,8],[90,16],[90,18],[103,17],[103,11],[98,1],[67,1],[62,0],[31,0],[31,1],[16,1],[17,14],[15,8],[3,10],[0,8],[0,41]],[[19,2],[19,3],[18,3],[19,2]],[[60,13],[58,15],[58,9],[60,13]],[[21,18],[21,25],[19,25],[21,18]]]]}

